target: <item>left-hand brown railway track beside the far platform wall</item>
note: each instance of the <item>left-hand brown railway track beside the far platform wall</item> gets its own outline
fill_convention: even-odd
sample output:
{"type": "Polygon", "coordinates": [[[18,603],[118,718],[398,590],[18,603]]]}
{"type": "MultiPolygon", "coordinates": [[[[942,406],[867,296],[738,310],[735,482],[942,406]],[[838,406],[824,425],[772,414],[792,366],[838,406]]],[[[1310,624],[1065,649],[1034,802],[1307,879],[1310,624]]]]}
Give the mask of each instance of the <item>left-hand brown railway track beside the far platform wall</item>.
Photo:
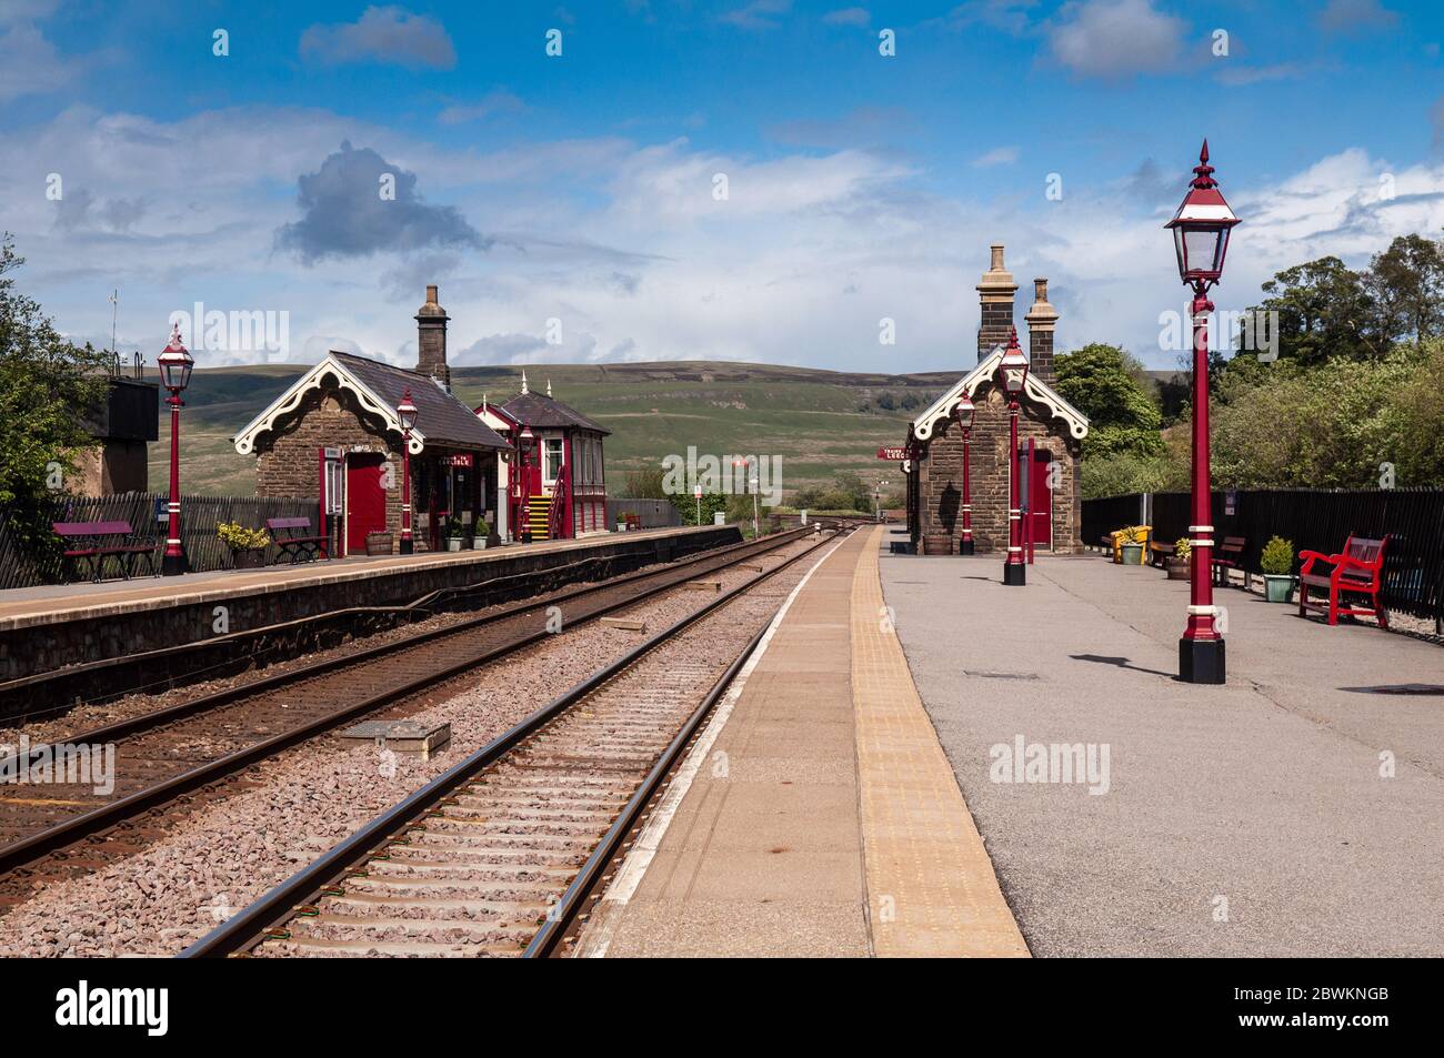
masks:
{"type": "MultiPolygon", "coordinates": [[[[48,880],[137,852],[153,837],[147,813],[183,797],[224,795],[224,782],[250,765],[539,642],[554,634],[557,618],[562,628],[576,626],[801,535],[764,537],[510,605],[75,735],[69,745],[114,746],[114,788],[97,792],[92,781],[0,788],[0,912],[48,880]]],[[[12,772],[42,752],[9,762],[12,772]]]]}

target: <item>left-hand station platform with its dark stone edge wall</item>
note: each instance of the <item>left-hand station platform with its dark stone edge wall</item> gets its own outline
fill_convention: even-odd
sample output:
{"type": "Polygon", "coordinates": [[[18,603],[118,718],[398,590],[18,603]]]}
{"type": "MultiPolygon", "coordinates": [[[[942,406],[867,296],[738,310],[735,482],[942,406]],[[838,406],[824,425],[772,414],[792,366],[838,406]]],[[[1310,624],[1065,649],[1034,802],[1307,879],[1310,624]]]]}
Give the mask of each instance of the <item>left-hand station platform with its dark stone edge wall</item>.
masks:
{"type": "Polygon", "coordinates": [[[429,592],[588,559],[612,576],[735,543],[735,527],[606,533],[481,551],[429,551],[0,592],[0,684],[65,665],[162,650],[354,606],[397,606],[429,592]],[[224,624],[218,624],[224,608],[224,624]]]}

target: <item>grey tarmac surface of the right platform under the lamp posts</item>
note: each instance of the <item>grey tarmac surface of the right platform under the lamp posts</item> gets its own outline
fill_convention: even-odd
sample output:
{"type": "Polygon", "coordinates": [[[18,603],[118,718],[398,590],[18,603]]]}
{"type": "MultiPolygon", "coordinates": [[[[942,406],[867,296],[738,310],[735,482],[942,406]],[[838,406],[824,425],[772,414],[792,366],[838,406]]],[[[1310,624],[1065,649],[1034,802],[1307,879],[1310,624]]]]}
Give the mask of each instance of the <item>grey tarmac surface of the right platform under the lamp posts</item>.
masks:
{"type": "Polygon", "coordinates": [[[1035,956],[1444,954],[1438,645],[1216,589],[1227,684],[1194,686],[1188,585],[1157,569],[1040,557],[1004,587],[998,556],[881,566],[1035,956]],[[1018,781],[1035,745],[1106,746],[1106,782],[1018,781]]]}

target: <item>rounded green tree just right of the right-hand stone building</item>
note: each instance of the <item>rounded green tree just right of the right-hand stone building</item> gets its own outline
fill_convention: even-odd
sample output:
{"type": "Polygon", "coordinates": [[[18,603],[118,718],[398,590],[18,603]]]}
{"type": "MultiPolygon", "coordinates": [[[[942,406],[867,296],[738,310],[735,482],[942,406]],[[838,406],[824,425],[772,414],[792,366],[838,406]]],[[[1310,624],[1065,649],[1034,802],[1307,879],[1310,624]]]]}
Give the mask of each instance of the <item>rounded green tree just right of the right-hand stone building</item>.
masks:
{"type": "Polygon", "coordinates": [[[1056,364],[1057,391],[1089,419],[1084,459],[1162,452],[1162,417],[1135,358],[1116,345],[1093,342],[1058,354],[1056,364]]]}

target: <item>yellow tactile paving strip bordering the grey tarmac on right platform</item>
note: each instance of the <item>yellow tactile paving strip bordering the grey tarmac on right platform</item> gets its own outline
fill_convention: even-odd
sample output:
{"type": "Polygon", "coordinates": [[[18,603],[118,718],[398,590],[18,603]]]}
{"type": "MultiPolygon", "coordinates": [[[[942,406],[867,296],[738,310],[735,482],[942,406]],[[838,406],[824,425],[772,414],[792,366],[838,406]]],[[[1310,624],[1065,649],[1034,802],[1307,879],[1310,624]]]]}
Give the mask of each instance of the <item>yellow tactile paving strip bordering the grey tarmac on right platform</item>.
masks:
{"type": "Polygon", "coordinates": [[[872,530],[852,579],[852,700],[878,956],[1027,957],[882,602],[872,530]]]}

